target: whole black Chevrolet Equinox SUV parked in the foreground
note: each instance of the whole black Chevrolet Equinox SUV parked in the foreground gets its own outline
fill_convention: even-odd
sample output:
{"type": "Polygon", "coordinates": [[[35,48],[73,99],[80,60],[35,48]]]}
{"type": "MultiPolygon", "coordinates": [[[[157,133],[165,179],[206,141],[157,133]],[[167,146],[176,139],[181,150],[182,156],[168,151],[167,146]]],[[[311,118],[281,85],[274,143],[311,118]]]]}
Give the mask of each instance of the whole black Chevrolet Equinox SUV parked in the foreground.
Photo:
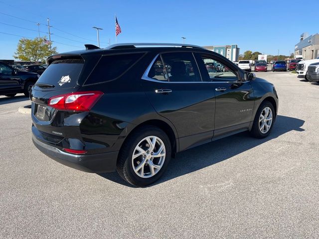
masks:
{"type": "Polygon", "coordinates": [[[50,56],[31,91],[33,142],[62,164],[146,186],[177,152],[273,127],[273,84],[220,54],[183,44],[96,48],[50,56]],[[229,71],[209,72],[211,63],[229,71]]]}

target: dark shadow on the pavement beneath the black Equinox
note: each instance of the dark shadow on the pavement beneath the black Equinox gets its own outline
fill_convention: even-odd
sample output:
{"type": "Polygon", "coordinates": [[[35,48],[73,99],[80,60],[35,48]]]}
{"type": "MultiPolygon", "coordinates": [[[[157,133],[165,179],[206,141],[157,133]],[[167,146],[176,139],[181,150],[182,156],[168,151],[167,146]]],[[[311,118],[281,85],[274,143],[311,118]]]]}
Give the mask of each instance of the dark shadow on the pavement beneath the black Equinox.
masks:
{"type": "MultiPolygon", "coordinates": [[[[219,163],[289,131],[304,131],[305,129],[301,128],[304,122],[302,119],[277,116],[272,132],[266,138],[253,138],[246,131],[180,152],[176,158],[170,160],[169,166],[160,180],[149,187],[219,163]],[[231,150],[229,145],[232,145],[231,150]]],[[[99,175],[116,183],[133,187],[117,173],[99,175]]]]}

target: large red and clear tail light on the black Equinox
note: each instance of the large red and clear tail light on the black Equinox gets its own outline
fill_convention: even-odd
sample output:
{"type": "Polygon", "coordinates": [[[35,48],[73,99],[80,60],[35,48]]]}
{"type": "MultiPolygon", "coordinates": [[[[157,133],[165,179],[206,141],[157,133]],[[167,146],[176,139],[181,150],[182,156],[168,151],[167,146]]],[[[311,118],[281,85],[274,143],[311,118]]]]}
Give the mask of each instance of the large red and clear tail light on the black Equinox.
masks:
{"type": "Polygon", "coordinates": [[[75,92],[51,97],[48,106],[63,111],[89,111],[104,93],[100,91],[75,92]]]}

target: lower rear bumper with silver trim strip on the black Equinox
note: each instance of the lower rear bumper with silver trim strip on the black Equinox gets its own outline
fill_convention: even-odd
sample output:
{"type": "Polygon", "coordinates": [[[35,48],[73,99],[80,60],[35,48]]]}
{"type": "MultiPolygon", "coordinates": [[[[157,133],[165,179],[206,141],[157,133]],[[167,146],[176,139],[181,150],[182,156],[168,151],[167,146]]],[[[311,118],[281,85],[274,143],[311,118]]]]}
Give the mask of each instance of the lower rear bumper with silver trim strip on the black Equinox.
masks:
{"type": "Polygon", "coordinates": [[[55,161],[90,173],[106,173],[116,170],[118,151],[91,155],[77,155],[61,151],[60,149],[41,142],[32,134],[33,144],[45,155],[55,161]]]}

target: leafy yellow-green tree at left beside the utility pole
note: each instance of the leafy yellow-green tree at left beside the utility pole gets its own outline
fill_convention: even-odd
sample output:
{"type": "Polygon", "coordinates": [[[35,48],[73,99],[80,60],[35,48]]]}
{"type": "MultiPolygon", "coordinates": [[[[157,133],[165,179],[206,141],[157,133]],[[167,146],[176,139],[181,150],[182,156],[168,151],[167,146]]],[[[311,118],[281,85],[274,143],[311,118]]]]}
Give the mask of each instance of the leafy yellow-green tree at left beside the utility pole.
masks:
{"type": "Polygon", "coordinates": [[[56,53],[56,47],[52,47],[51,51],[50,45],[45,44],[43,38],[36,37],[33,40],[21,38],[13,57],[22,61],[37,62],[45,61],[48,56],[56,53]]]}

